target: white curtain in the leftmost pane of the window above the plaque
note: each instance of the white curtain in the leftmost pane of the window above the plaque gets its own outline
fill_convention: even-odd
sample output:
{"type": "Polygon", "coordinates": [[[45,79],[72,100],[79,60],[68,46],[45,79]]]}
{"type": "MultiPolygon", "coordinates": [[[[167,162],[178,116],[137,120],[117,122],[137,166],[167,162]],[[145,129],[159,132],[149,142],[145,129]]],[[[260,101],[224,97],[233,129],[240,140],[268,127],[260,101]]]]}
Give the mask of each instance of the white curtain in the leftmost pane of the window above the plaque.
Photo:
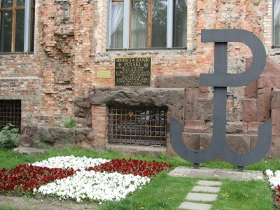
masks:
{"type": "Polygon", "coordinates": [[[111,48],[123,48],[123,2],[112,2],[111,48]]]}

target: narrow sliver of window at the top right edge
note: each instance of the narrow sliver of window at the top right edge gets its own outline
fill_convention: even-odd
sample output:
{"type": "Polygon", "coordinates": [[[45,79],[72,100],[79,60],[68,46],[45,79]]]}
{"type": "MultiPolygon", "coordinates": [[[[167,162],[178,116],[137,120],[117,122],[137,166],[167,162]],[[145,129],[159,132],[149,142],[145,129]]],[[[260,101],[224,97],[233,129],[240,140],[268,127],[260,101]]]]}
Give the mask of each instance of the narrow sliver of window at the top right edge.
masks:
{"type": "Polygon", "coordinates": [[[280,0],[274,0],[274,46],[280,47],[280,0]]]}

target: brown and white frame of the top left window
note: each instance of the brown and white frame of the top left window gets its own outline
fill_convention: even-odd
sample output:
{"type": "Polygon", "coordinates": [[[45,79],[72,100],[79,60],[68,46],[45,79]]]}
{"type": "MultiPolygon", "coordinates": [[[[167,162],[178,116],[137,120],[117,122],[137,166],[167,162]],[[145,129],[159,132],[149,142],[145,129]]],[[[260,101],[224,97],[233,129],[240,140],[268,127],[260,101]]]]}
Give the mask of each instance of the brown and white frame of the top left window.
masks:
{"type": "MultiPolygon", "coordinates": [[[[25,10],[25,30],[24,30],[24,40],[23,40],[23,52],[33,52],[34,49],[31,49],[32,42],[34,42],[34,37],[32,38],[34,30],[34,18],[33,12],[35,13],[35,6],[33,0],[25,0],[25,6],[17,6],[17,0],[13,0],[13,6],[8,8],[1,8],[0,13],[4,11],[13,12],[13,21],[12,21],[12,37],[11,37],[11,49],[9,52],[0,52],[0,53],[15,53],[20,51],[15,51],[15,31],[16,31],[16,11],[25,10]],[[31,31],[32,29],[32,31],[31,31]]],[[[35,4],[35,1],[34,1],[35,4]]],[[[1,1],[0,1],[1,6],[1,1]]]]}

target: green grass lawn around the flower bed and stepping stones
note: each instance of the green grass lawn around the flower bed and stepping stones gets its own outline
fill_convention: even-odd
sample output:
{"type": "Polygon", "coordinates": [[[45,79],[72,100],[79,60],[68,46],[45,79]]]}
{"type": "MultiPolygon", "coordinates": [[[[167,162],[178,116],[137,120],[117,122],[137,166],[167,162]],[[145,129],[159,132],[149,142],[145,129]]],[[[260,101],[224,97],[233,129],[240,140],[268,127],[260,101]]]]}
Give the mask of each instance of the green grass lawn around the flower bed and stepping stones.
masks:
{"type": "MultiPolygon", "coordinates": [[[[49,149],[45,154],[41,155],[19,155],[13,151],[0,149],[0,169],[10,169],[23,163],[32,163],[38,160],[45,160],[53,156],[86,156],[87,158],[135,158],[141,160],[155,160],[158,162],[171,163],[174,167],[179,165],[192,166],[190,162],[186,162],[179,157],[169,158],[160,155],[154,158],[149,155],[123,155],[114,151],[105,151],[98,153],[90,149],[64,148],[49,149]]],[[[228,168],[235,169],[226,162],[211,161],[201,165],[201,167],[209,168],[228,168]]],[[[264,172],[266,169],[275,171],[280,167],[280,160],[261,160],[254,165],[245,167],[245,169],[260,170],[264,172]]],[[[104,202],[99,209],[178,209],[179,205],[185,199],[186,195],[195,186],[198,179],[191,178],[175,178],[168,176],[165,172],[158,175],[148,186],[145,186],[137,193],[127,197],[120,202],[104,202]]],[[[231,181],[223,180],[223,185],[218,200],[212,202],[212,209],[273,209],[274,201],[268,183],[265,181],[231,181]]],[[[9,205],[0,206],[0,209],[14,209],[9,205]]]]}

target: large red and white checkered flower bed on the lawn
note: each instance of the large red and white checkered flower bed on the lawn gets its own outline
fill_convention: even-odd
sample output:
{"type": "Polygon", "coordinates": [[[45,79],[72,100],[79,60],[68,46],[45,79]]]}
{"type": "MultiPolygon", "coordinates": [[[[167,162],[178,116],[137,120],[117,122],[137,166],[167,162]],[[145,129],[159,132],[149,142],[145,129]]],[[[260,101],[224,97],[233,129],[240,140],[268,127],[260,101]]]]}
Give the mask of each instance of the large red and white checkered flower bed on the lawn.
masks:
{"type": "Polygon", "coordinates": [[[35,193],[80,202],[121,200],[171,165],[132,158],[54,157],[0,170],[0,193],[35,193]]]}

